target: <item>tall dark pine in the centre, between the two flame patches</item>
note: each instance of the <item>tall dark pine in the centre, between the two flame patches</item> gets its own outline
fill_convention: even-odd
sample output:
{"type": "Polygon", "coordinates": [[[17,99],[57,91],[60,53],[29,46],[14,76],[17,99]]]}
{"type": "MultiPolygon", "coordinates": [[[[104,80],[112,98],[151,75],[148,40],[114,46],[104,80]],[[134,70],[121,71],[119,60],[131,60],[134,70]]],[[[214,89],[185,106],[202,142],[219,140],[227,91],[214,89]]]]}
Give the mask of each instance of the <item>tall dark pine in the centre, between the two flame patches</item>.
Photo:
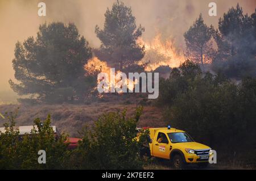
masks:
{"type": "Polygon", "coordinates": [[[100,50],[105,54],[105,61],[113,68],[122,70],[141,60],[144,47],[137,43],[137,39],[143,31],[141,25],[137,28],[131,8],[126,7],[123,2],[115,2],[112,10],[105,12],[104,28],[95,28],[96,35],[102,42],[100,50]]]}

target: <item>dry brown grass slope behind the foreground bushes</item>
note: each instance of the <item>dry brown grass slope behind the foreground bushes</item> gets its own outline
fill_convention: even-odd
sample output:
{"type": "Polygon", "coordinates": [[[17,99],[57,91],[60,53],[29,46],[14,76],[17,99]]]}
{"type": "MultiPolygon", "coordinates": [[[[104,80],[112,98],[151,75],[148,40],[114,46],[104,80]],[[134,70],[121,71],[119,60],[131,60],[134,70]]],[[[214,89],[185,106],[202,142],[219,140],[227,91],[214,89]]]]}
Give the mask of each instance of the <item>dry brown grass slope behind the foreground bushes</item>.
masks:
{"type": "MultiPolygon", "coordinates": [[[[56,105],[36,105],[25,106],[18,104],[0,105],[0,112],[14,111],[19,107],[16,125],[32,125],[36,117],[46,119],[51,114],[52,125],[70,136],[78,136],[78,131],[86,123],[93,123],[102,113],[122,111],[127,109],[127,116],[133,115],[136,104],[125,103],[92,103],[90,105],[56,104],[56,105]]],[[[138,127],[163,127],[164,121],[161,119],[161,112],[153,106],[144,106],[143,115],[138,123],[138,127]]],[[[0,127],[6,120],[0,117],[0,127]]]]}

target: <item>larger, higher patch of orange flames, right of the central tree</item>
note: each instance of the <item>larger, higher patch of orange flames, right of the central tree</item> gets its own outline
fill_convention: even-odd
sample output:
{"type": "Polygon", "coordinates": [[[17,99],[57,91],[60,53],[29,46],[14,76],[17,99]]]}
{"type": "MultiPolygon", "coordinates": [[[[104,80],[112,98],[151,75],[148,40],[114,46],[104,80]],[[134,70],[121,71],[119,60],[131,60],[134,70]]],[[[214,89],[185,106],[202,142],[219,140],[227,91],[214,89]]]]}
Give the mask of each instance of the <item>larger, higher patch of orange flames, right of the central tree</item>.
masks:
{"type": "Polygon", "coordinates": [[[143,41],[142,38],[138,39],[138,43],[144,45],[146,54],[139,64],[148,62],[146,70],[152,71],[162,65],[168,65],[171,68],[179,66],[184,62],[185,57],[182,53],[175,48],[172,40],[161,40],[159,33],[151,41],[143,41]]]}

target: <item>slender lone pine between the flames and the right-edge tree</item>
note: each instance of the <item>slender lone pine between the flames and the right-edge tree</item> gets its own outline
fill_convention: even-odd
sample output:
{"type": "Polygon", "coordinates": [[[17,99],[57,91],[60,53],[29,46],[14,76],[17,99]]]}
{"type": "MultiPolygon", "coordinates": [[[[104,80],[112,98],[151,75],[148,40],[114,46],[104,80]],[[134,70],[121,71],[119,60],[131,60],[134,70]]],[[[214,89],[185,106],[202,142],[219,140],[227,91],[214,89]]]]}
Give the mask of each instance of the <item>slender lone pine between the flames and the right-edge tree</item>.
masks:
{"type": "Polygon", "coordinates": [[[187,45],[186,54],[191,60],[201,64],[212,60],[214,54],[211,41],[213,32],[213,27],[208,27],[200,14],[196,22],[184,33],[187,45]]]}

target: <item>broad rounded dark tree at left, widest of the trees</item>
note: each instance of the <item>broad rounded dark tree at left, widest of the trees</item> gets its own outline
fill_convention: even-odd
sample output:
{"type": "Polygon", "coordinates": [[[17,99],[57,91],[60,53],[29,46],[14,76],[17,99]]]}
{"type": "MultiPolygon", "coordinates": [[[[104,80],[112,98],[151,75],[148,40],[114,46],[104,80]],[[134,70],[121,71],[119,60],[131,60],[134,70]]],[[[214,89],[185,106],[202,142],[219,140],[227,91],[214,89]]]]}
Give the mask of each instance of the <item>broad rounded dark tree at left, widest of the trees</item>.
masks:
{"type": "Polygon", "coordinates": [[[20,83],[10,80],[10,86],[19,95],[34,95],[43,102],[82,96],[89,88],[84,65],[91,56],[75,24],[42,24],[36,39],[16,43],[13,68],[20,83]]]}

